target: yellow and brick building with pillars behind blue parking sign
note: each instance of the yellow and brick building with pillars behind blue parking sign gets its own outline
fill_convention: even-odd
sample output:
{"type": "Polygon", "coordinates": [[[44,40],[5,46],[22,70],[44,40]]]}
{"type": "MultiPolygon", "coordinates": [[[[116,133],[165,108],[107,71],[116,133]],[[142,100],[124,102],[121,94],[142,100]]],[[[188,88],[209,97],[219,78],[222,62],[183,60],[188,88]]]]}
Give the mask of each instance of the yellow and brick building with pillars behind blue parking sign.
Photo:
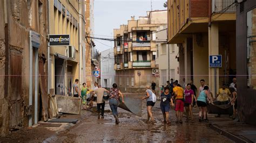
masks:
{"type": "Polygon", "coordinates": [[[179,46],[179,75],[183,84],[200,79],[213,96],[236,74],[235,1],[168,1],[168,42],[179,46]],[[228,25],[228,26],[227,26],[228,25]],[[211,68],[210,55],[222,55],[220,68],[211,68]]]}

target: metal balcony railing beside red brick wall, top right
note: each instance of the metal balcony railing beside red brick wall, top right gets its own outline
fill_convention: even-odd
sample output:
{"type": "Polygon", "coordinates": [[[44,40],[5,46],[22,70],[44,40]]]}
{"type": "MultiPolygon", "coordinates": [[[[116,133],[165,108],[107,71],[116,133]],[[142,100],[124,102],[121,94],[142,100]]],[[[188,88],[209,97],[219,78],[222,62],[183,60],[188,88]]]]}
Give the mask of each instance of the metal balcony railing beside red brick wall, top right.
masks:
{"type": "Polygon", "coordinates": [[[235,0],[212,0],[212,12],[236,12],[235,0]]]}

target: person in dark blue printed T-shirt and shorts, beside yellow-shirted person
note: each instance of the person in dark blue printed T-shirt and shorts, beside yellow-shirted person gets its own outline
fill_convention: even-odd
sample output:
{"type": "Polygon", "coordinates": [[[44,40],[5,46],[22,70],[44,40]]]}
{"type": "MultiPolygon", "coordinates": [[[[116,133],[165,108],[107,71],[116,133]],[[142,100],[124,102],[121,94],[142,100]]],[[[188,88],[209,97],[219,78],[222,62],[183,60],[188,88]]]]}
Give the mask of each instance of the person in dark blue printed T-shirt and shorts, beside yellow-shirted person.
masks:
{"type": "Polygon", "coordinates": [[[160,108],[163,113],[164,123],[167,123],[168,125],[171,124],[169,120],[170,103],[174,106],[170,90],[168,87],[165,87],[164,92],[161,94],[160,108]]]}

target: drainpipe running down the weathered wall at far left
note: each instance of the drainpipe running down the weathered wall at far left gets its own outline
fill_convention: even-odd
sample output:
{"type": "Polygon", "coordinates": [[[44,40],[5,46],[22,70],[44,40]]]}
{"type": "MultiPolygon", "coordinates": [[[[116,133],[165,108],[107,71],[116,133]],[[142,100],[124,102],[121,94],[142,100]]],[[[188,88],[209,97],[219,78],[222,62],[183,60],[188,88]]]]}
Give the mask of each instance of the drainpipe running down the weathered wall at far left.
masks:
{"type": "Polygon", "coordinates": [[[8,13],[7,0],[4,0],[4,35],[5,35],[5,68],[4,68],[4,97],[8,97],[8,63],[9,63],[9,33],[8,33],[8,13]]]}

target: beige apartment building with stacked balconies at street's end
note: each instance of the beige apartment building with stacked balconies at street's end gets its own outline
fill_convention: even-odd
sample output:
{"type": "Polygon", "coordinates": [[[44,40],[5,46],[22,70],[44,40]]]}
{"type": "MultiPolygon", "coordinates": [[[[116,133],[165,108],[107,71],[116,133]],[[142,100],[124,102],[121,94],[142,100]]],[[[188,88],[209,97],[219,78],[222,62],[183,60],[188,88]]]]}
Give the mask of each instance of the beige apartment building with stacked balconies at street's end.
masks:
{"type": "MultiPolygon", "coordinates": [[[[114,29],[116,83],[124,92],[143,92],[152,81],[158,83],[156,31],[167,24],[167,11],[148,11],[147,16],[128,20],[114,29]]],[[[164,40],[166,42],[166,40],[164,40]]],[[[158,85],[157,85],[158,87],[158,85]]]]}

